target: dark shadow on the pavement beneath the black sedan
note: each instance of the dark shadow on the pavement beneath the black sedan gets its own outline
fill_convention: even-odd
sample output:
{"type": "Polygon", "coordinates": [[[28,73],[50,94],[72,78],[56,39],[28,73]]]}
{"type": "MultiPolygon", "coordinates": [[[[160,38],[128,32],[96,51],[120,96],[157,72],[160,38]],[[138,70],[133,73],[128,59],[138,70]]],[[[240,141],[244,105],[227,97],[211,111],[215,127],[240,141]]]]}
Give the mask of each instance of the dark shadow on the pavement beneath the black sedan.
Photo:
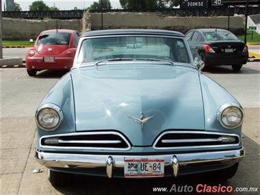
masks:
{"type": "Polygon", "coordinates": [[[204,73],[218,73],[218,74],[259,74],[259,70],[254,70],[252,68],[248,68],[244,65],[241,70],[234,71],[231,66],[207,66],[203,68],[204,73]]]}

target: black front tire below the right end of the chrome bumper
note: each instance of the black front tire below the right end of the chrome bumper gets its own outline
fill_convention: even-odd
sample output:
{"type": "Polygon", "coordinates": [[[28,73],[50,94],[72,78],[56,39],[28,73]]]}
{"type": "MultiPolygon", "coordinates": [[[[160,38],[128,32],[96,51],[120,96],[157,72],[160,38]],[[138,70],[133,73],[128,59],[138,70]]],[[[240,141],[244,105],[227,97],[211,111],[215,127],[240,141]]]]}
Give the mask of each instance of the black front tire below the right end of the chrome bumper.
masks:
{"type": "Polygon", "coordinates": [[[234,164],[229,168],[209,172],[208,176],[210,179],[213,179],[215,181],[226,181],[227,179],[231,179],[231,177],[235,175],[238,165],[239,163],[234,164]]]}

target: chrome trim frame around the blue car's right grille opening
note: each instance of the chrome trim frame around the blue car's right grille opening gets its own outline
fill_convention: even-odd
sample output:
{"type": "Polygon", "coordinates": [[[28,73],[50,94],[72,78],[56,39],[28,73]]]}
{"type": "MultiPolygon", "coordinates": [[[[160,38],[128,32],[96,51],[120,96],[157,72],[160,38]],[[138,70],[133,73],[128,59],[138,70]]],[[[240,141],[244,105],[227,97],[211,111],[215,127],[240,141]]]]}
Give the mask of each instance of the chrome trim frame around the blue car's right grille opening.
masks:
{"type": "MultiPolygon", "coordinates": [[[[187,139],[188,140],[188,139],[187,139]]],[[[218,147],[226,147],[226,146],[239,146],[240,138],[239,135],[235,133],[217,133],[217,132],[209,132],[209,131],[165,131],[161,133],[159,137],[153,143],[153,148],[155,150],[168,150],[168,149],[192,149],[192,148],[218,148],[218,147]],[[237,144],[223,144],[223,145],[205,145],[205,146],[176,146],[176,147],[156,147],[156,144],[159,142],[162,136],[170,133],[198,133],[198,134],[207,134],[207,135],[224,135],[224,136],[235,136],[238,138],[237,144]]]]}

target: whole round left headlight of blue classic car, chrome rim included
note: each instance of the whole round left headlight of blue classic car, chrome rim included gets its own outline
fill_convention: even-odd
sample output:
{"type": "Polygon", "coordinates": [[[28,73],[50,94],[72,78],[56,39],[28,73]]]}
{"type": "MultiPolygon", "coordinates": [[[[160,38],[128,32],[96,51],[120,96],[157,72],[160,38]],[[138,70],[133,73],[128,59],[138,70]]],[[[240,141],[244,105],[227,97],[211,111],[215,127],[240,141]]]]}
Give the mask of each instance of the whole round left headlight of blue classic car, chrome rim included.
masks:
{"type": "Polygon", "coordinates": [[[57,129],[62,120],[62,109],[52,103],[42,105],[36,112],[36,124],[46,131],[57,129]]]}

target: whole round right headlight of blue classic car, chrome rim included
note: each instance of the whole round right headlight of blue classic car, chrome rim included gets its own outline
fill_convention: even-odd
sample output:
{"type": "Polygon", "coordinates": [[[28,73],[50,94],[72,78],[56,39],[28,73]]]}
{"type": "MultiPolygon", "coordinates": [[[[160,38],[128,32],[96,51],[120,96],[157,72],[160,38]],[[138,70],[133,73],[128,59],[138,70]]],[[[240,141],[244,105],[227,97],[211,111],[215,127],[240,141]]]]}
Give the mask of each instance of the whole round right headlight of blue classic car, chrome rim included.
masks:
{"type": "Polygon", "coordinates": [[[237,103],[225,103],[218,109],[217,117],[223,127],[235,129],[242,125],[244,112],[237,103]]]}

